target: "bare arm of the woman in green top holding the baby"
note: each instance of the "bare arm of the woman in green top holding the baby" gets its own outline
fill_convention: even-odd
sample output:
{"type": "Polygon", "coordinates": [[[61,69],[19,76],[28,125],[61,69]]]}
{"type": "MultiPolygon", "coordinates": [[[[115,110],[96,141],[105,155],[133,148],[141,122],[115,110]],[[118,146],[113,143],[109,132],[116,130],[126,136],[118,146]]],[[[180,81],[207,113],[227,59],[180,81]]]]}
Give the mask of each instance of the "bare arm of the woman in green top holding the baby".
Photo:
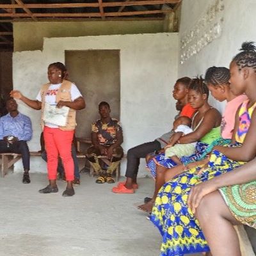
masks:
{"type": "Polygon", "coordinates": [[[205,134],[211,131],[212,128],[220,125],[220,123],[221,123],[220,112],[214,108],[209,109],[209,111],[205,113],[204,120],[199,125],[199,127],[195,131],[180,138],[179,142],[182,144],[186,144],[186,143],[199,141],[201,138],[205,136],[205,134]]]}

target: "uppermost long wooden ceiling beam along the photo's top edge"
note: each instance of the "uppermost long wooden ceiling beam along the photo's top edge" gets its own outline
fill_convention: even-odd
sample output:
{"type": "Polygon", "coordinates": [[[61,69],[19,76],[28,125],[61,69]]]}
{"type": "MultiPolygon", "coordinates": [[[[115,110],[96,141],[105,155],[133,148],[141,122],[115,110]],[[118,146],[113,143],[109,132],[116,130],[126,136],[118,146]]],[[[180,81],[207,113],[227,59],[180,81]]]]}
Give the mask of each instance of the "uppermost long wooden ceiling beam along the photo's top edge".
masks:
{"type": "MultiPolygon", "coordinates": [[[[20,0],[15,0],[20,1],[20,0]]],[[[124,1],[102,3],[102,7],[111,6],[131,6],[131,5],[154,5],[154,4],[176,4],[181,0],[147,0],[147,1],[124,1]]],[[[99,3],[67,3],[67,4],[0,4],[0,8],[83,8],[83,7],[99,7],[99,3]],[[23,7],[24,6],[24,7],[23,7]]],[[[30,12],[30,11],[29,11],[30,12]]]]}

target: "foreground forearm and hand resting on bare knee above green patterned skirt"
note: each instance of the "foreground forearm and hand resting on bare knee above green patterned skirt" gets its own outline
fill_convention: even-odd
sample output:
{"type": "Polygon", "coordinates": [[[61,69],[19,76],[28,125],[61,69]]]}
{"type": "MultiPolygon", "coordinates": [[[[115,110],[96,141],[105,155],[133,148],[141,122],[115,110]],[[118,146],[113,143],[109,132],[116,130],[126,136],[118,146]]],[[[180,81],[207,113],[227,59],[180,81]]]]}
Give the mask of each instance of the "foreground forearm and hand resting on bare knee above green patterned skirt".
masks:
{"type": "Polygon", "coordinates": [[[246,182],[256,180],[255,164],[256,159],[253,159],[249,163],[244,164],[232,172],[224,173],[223,175],[219,175],[218,177],[214,177],[211,180],[207,180],[196,185],[191,189],[189,194],[189,208],[191,208],[192,212],[195,213],[196,207],[198,207],[202,198],[205,195],[216,191],[218,188],[236,184],[244,184],[246,182]]]}

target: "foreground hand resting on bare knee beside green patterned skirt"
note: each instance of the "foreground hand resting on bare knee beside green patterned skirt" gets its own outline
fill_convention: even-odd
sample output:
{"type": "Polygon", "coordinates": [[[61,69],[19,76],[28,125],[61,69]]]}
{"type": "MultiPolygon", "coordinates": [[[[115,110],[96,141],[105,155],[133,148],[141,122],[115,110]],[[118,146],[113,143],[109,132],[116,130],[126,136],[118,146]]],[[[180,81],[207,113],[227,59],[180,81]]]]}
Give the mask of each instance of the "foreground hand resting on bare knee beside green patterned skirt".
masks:
{"type": "Polygon", "coordinates": [[[215,186],[212,180],[202,182],[191,189],[188,196],[188,207],[191,209],[193,214],[195,214],[196,208],[200,204],[202,198],[205,195],[208,195],[213,191],[216,191],[217,189],[218,189],[217,186],[215,186]]]}

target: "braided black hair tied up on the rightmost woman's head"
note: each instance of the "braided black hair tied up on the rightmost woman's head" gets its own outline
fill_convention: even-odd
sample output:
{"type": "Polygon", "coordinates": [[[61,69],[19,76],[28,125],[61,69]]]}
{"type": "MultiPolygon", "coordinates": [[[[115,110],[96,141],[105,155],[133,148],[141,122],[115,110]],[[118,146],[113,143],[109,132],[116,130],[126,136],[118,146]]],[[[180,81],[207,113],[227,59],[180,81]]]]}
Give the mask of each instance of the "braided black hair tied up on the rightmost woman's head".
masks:
{"type": "Polygon", "coordinates": [[[241,49],[239,49],[239,54],[237,54],[232,61],[236,62],[239,70],[248,67],[256,70],[256,47],[254,42],[244,42],[241,49]]]}

